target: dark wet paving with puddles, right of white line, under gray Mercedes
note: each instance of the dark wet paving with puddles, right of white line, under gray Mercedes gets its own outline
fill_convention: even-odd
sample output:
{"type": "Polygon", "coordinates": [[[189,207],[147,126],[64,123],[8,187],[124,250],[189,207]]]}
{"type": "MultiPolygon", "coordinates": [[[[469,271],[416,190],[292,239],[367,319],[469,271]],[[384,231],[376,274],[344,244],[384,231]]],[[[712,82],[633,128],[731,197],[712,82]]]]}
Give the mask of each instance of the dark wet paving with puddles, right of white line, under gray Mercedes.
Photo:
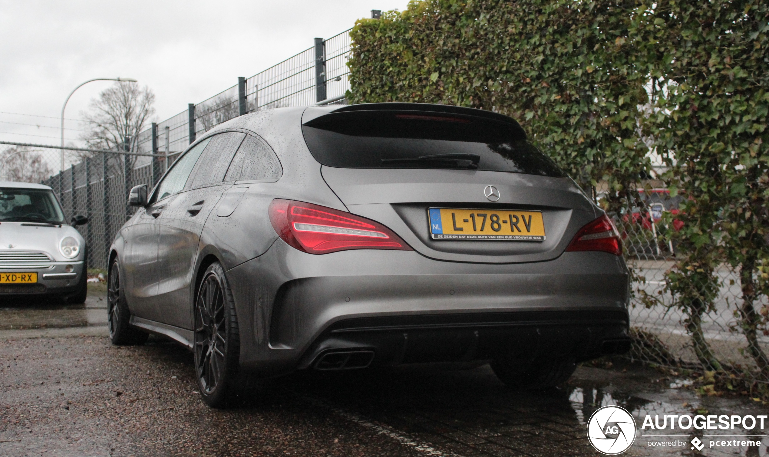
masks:
{"type": "Polygon", "coordinates": [[[698,397],[685,387],[688,380],[664,378],[638,366],[628,366],[628,372],[579,367],[568,385],[545,392],[509,389],[488,365],[465,370],[396,367],[368,374],[316,372],[293,378],[286,379],[286,384],[300,395],[338,405],[457,455],[597,455],[588,442],[587,421],[606,405],[627,409],[638,424],[634,444],[622,455],[752,457],[766,455],[769,444],[761,436],[754,438],[766,439],[760,447],[709,447],[711,441],[747,442],[747,437],[734,435],[756,433],[739,426],[734,430],[641,429],[646,415],[651,420],[654,415],[694,417],[707,410],[705,415],[755,416],[769,415],[769,409],[750,399],[698,397]],[[705,445],[701,451],[691,449],[695,438],[705,445]],[[650,444],[673,440],[675,447],[650,444]]]}

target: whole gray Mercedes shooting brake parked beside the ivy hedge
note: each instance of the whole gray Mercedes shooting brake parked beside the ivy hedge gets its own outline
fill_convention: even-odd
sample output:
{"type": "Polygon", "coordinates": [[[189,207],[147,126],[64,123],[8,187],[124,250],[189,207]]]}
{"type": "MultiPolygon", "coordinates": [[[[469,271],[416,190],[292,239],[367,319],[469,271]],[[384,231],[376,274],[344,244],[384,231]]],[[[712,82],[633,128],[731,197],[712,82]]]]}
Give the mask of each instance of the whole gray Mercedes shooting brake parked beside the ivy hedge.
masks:
{"type": "Polygon", "coordinates": [[[298,369],[491,362],[564,382],[627,351],[611,219],[526,140],[473,108],[278,108],[206,132],[109,253],[115,344],[166,335],[209,405],[298,369]]]}

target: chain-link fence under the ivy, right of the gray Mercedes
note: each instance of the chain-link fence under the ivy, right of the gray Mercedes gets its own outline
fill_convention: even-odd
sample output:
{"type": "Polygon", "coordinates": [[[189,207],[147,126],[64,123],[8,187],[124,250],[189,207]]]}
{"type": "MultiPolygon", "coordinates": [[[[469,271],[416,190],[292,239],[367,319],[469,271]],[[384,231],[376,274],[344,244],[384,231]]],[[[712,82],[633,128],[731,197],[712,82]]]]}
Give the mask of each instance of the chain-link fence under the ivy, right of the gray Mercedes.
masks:
{"type": "Polygon", "coordinates": [[[715,269],[707,284],[692,286],[697,290],[677,287],[671,273],[675,274],[682,252],[670,234],[680,230],[682,223],[664,216],[677,213],[681,197],[670,198],[664,189],[646,190],[641,196],[640,207],[614,217],[635,276],[631,358],[699,372],[706,387],[711,383],[711,393],[719,385],[736,391],[765,385],[769,379],[761,365],[769,350],[769,332],[757,328],[757,321],[749,322],[746,309],[765,315],[767,297],[745,296],[745,279],[726,262],[715,269]],[[715,372],[720,375],[714,378],[715,372]]]}

